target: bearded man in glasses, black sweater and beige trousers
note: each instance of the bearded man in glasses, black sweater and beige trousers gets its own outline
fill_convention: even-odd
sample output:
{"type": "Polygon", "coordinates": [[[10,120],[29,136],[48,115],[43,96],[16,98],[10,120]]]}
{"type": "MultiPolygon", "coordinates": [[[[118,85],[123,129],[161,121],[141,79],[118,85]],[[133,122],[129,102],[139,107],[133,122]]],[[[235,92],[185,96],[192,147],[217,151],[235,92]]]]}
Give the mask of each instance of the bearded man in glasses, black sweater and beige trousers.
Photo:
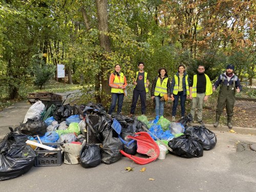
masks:
{"type": "Polygon", "coordinates": [[[210,78],[204,74],[204,66],[198,66],[197,71],[198,74],[194,75],[189,85],[189,98],[192,99],[190,113],[194,119],[197,108],[198,123],[203,125],[203,104],[208,99],[208,96],[212,94],[212,89],[210,78]]]}

